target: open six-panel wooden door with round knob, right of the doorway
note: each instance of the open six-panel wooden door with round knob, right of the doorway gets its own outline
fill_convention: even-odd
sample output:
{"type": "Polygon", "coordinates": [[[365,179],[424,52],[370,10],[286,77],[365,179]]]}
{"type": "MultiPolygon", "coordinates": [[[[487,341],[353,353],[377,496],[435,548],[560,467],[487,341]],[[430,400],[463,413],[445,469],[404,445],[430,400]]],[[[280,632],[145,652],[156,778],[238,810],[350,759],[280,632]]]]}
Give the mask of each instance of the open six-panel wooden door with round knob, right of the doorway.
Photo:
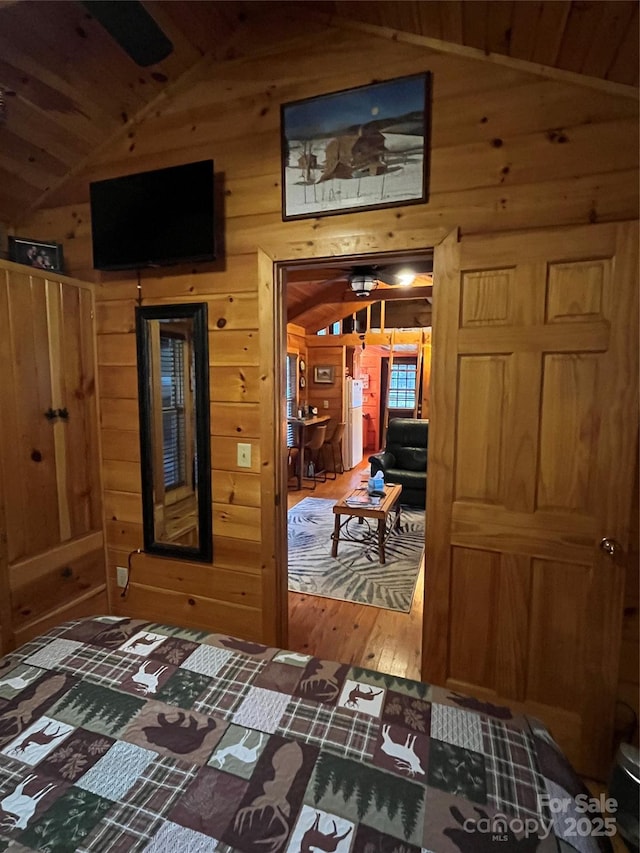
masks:
{"type": "Polygon", "coordinates": [[[637,223],[451,236],[434,275],[423,677],[542,718],[596,778],[638,435],[637,252],[637,223]]]}

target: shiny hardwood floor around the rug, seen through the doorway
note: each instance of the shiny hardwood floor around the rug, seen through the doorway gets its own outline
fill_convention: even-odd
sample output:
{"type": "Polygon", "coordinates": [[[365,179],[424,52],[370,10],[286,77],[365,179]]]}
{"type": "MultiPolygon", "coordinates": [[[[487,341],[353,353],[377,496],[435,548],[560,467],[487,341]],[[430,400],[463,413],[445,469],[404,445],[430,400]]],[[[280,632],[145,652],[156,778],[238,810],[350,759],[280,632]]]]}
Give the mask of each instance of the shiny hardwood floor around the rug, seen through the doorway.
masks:
{"type": "MultiPolygon", "coordinates": [[[[365,460],[335,480],[317,483],[315,490],[290,489],[288,508],[307,497],[338,500],[369,473],[365,460]]],[[[305,481],[309,483],[310,481],[305,481]]],[[[289,641],[293,651],[329,660],[366,666],[391,675],[420,679],[424,566],[410,613],[289,593],[289,641]]]]}

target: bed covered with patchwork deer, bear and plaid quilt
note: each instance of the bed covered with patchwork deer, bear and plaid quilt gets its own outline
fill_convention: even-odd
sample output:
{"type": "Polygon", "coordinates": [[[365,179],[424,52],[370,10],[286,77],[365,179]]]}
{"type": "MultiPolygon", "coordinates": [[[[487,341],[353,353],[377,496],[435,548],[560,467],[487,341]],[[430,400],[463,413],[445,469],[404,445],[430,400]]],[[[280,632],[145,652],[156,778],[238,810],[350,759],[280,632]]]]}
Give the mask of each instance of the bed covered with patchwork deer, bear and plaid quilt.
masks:
{"type": "Polygon", "coordinates": [[[94,617],[0,660],[0,851],[609,849],[554,807],[586,793],[507,708],[226,635],[94,617]]]}

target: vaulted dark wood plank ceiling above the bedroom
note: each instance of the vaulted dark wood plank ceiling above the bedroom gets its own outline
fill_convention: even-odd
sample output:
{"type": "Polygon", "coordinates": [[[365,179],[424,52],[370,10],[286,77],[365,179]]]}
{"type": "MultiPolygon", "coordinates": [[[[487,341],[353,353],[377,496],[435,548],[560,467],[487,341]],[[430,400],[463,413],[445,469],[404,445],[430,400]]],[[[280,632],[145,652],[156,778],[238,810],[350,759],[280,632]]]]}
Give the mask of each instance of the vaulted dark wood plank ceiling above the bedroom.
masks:
{"type": "Polygon", "coordinates": [[[201,63],[259,50],[285,12],[638,85],[635,0],[147,0],[145,6],[174,46],[149,68],[138,67],[75,0],[0,2],[0,221],[19,224],[56,204],[71,176],[185,85],[201,63]]]}

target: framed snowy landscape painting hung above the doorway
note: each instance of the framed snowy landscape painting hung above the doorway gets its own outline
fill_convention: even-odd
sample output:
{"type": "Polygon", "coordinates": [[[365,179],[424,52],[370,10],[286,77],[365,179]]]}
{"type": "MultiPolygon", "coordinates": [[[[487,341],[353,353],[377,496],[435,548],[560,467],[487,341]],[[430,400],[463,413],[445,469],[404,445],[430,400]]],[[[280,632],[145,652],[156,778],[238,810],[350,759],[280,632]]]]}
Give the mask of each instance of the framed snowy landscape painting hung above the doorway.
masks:
{"type": "Polygon", "coordinates": [[[428,198],[431,75],[281,106],[282,218],[428,198]]]}

